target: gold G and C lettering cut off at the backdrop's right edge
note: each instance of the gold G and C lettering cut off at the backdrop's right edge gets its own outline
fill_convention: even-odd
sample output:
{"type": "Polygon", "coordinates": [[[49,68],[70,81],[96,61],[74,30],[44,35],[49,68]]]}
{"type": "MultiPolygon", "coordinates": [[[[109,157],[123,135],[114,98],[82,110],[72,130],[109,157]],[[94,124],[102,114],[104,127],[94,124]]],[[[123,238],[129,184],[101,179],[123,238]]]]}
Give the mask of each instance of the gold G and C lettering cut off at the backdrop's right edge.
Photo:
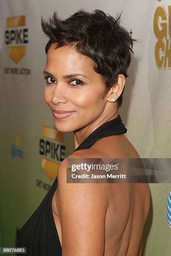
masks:
{"type": "Polygon", "coordinates": [[[153,28],[157,39],[154,50],[156,66],[159,70],[171,69],[171,5],[156,8],[153,28]]]}

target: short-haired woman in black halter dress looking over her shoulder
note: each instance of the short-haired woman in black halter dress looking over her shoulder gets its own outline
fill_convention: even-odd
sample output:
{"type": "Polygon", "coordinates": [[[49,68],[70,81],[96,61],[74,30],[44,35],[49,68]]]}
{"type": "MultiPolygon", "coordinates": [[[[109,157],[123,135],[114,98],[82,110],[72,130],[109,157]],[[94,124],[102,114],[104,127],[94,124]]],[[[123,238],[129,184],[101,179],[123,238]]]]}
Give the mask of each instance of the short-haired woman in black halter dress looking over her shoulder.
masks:
{"type": "MultiPolygon", "coordinates": [[[[44,99],[61,132],[74,133],[68,158],[139,158],[118,109],[133,40],[102,10],[57,13],[42,29],[49,41],[44,99]]],[[[67,183],[67,159],[41,205],[19,233],[27,255],[139,256],[149,213],[149,185],[67,183]]]]}

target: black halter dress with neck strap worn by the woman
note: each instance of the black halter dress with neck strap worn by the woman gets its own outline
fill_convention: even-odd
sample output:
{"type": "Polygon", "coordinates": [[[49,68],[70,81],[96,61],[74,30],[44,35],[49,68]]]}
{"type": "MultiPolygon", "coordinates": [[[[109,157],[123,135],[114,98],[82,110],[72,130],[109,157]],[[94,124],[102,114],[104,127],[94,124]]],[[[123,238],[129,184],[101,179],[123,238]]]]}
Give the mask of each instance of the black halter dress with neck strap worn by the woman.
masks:
{"type": "MultiPolygon", "coordinates": [[[[90,148],[97,140],[126,133],[120,115],[117,118],[102,124],[94,130],[74,150],[90,148]]],[[[57,178],[52,184],[40,206],[20,229],[17,247],[26,247],[28,256],[62,256],[62,247],[59,241],[55,221],[52,214],[52,197],[57,189],[57,178]]]]}

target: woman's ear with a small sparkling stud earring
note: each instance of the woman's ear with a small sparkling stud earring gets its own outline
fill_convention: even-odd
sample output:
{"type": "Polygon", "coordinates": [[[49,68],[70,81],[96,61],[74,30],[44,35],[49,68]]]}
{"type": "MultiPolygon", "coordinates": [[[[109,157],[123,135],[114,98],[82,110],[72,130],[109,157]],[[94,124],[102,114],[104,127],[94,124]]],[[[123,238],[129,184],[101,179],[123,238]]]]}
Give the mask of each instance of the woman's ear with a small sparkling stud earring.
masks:
{"type": "Polygon", "coordinates": [[[118,75],[118,82],[116,84],[114,84],[108,92],[109,95],[107,97],[107,100],[109,102],[114,102],[119,98],[122,91],[124,90],[125,82],[126,82],[125,76],[123,74],[119,74],[118,75]]]}

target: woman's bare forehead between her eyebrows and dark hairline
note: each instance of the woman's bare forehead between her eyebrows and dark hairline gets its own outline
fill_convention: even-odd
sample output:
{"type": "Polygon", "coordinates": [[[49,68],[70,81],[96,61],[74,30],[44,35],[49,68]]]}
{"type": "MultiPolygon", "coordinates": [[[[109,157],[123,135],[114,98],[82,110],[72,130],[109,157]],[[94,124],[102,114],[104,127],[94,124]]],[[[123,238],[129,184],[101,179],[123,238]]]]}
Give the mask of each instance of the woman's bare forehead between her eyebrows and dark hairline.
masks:
{"type": "Polygon", "coordinates": [[[57,49],[55,49],[55,46],[56,44],[52,44],[47,52],[47,68],[95,72],[92,59],[79,54],[73,46],[62,46],[57,49]]]}

